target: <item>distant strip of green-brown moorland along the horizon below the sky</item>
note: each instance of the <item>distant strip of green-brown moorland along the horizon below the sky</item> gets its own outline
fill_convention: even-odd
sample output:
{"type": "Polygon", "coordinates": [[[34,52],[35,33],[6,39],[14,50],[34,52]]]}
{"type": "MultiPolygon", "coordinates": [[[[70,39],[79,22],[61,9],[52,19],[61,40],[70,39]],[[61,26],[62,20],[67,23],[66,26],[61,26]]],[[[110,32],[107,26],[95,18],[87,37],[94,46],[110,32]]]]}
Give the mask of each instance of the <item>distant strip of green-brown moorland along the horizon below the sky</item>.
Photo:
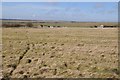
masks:
{"type": "MultiPolygon", "coordinates": [[[[76,21],[37,21],[37,20],[2,20],[3,27],[9,24],[17,24],[15,27],[25,26],[28,23],[32,24],[33,28],[40,28],[41,25],[46,26],[60,26],[60,27],[79,27],[79,28],[94,28],[94,26],[106,25],[106,26],[118,26],[117,22],[76,22],[76,21]]],[[[27,26],[27,25],[26,25],[27,26]]],[[[10,25],[9,27],[12,27],[10,25]]]]}

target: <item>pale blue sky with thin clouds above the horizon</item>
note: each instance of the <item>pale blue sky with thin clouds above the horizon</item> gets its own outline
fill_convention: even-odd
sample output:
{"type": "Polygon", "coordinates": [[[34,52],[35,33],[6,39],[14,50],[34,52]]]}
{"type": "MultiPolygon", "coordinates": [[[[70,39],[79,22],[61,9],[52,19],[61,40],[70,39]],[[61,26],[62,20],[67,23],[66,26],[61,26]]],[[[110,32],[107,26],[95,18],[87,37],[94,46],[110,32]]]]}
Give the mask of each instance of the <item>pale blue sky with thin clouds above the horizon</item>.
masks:
{"type": "Polygon", "coordinates": [[[117,2],[3,2],[2,18],[117,22],[117,2]]]}

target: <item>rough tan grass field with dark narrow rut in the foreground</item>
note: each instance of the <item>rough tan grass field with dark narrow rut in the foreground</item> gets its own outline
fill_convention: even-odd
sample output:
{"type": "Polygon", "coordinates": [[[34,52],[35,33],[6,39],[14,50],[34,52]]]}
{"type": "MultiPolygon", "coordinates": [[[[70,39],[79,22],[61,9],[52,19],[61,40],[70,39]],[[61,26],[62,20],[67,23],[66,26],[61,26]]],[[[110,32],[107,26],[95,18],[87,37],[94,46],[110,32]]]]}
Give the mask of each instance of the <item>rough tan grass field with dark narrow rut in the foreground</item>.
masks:
{"type": "Polygon", "coordinates": [[[3,28],[3,75],[118,77],[117,29],[3,28]]]}

